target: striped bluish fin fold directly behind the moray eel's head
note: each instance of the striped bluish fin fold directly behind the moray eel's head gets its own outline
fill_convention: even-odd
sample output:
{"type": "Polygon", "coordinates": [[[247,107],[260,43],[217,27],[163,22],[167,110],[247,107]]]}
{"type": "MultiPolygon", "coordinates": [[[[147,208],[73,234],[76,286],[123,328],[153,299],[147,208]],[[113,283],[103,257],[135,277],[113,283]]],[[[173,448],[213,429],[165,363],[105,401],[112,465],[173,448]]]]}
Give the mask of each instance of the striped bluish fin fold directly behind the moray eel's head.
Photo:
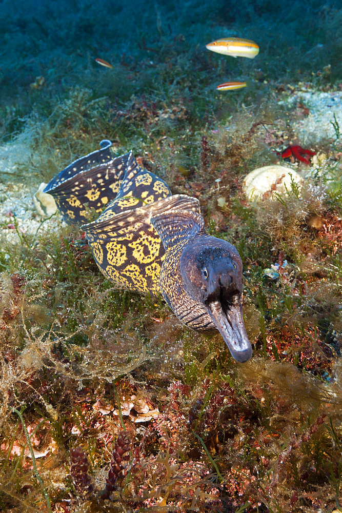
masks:
{"type": "Polygon", "coordinates": [[[182,207],[154,215],[151,223],[162,239],[165,251],[182,242],[184,238],[206,234],[204,219],[200,212],[183,210],[182,207]]]}

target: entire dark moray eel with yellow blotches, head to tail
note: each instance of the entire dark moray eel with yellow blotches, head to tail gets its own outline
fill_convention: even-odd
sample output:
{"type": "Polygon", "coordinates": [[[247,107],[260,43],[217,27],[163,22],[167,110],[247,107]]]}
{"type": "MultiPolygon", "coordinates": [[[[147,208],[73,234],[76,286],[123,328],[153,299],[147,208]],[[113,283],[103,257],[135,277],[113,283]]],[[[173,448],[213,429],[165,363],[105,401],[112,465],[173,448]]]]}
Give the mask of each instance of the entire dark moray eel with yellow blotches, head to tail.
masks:
{"type": "Polygon", "coordinates": [[[234,246],[206,234],[199,202],[171,195],[166,183],[140,168],[132,152],[115,157],[110,141],[61,171],[44,192],[67,222],[83,226],[94,259],[127,290],[159,293],[186,326],[218,330],[232,356],[252,356],[242,313],[242,261],[234,246]],[[89,210],[88,210],[89,212],[89,210]]]}

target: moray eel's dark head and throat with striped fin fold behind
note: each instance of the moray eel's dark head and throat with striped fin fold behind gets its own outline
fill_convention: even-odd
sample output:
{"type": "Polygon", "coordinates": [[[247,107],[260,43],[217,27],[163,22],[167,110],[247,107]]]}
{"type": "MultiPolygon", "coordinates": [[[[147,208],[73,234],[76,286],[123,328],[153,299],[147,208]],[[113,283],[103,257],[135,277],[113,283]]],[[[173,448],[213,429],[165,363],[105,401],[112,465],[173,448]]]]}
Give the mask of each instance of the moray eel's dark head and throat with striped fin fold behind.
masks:
{"type": "Polygon", "coordinates": [[[168,200],[158,202],[164,209],[151,218],[166,250],[160,292],[186,326],[195,331],[218,329],[233,358],[247,362],[252,347],[242,312],[240,255],[229,242],[206,234],[197,200],[197,209],[190,211],[182,205],[168,210],[168,200]]]}

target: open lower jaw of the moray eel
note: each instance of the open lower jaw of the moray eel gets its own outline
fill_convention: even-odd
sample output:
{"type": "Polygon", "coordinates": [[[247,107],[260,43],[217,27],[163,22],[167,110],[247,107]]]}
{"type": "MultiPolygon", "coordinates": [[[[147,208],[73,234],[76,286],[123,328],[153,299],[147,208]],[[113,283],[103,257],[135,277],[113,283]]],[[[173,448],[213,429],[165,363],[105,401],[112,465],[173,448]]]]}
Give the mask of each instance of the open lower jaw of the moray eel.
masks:
{"type": "Polygon", "coordinates": [[[219,299],[208,301],[208,313],[222,334],[232,357],[237,362],[247,362],[252,357],[253,350],[244,325],[242,305],[238,300],[233,304],[223,304],[224,307],[219,299]]]}

